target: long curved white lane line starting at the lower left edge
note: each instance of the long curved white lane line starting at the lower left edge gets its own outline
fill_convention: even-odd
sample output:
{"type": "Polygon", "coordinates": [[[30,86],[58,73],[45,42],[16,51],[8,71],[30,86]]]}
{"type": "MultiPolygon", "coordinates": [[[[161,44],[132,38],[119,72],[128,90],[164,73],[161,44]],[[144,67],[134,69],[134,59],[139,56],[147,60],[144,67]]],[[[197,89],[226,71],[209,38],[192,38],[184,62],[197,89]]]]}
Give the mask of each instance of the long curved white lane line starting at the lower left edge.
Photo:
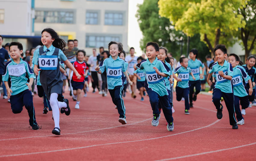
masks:
{"type": "Polygon", "coordinates": [[[53,150],[53,151],[39,151],[39,152],[33,152],[33,153],[1,155],[0,157],[15,157],[15,156],[22,156],[22,155],[51,153],[51,152],[58,152],[58,151],[70,151],[70,150],[91,148],[91,147],[103,146],[103,145],[113,145],[113,144],[123,144],[123,143],[131,143],[131,142],[141,142],[141,141],[155,140],[155,139],[161,139],[161,138],[166,138],[166,137],[169,137],[169,136],[175,136],[175,135],[179,135],[179,134],[184,134],[184,133],[189,133],[189,132],[192,132],[192,131],[200,130],[200,129],[203,129],[203,128],[205,128],[205,127],[209,127],[209,126],[211,126],[211,125],[214,125],[214,124],[216,124],[216,123],[219,122],[219,121],[220,121],[220,120],[216,120],[216,121],[214,121],[213,123],[211,123],[211,124],[209,124],[209,125],[207,125],[207,126],[200,127],[200,128],[197,128],[197,129],[193,129],[193,130],[189,130],[189,131],[184,131],[184,132],[181,132],[181,133],[176,133],[176,134],[171,134],[171,135],[166,135],[166,136],[160,136],[160,137],[156,137],[156,138],[150,138],[150,139],[133,140],[133,141],[126,141],[126,142],[113,142],[113,143],[107,143],[107,144],[96,144],[96,145],[89,145],[89,146],[84,146],[84,147],[59,149],[59,150],[53,150]]]}

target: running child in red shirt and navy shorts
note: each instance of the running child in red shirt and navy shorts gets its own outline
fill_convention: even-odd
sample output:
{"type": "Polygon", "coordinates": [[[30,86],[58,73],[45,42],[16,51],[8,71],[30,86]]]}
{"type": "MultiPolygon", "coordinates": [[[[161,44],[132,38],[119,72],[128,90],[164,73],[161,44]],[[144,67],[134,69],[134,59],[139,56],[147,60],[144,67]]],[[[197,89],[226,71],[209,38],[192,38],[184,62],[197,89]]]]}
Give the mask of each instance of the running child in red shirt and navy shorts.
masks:
{"type": "MultiPolygon", "coordinates": [[[[71,79],[71,85],[73,88],[73,94],[77,95],[75,109],[79,109],[79,103],[82,97],[82,90],[84,87],[84,78],[87,76],[89,68],[86,66],[85,62],[83,61],[86,53],[84,50],[78,50],[76,53],[77,61],[73,63],[74,68],[78,73],[81,75],[80,79],[77,79],[77,76],[73,75],[71,79]]],[[[71,75],[71,70],[69,70],[69,79],[71,75]]]]}

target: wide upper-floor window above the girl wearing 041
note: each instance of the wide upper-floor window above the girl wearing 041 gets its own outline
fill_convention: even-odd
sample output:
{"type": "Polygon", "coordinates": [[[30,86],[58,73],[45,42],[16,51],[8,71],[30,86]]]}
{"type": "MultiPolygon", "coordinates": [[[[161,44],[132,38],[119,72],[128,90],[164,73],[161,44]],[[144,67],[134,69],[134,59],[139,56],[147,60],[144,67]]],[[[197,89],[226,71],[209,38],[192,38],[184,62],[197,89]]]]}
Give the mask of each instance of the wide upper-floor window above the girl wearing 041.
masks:
{"type": "Polygon", "coordinates": [[[36,10],[35,22],[74,23],[74,11],[42,11],[36,10]]]}

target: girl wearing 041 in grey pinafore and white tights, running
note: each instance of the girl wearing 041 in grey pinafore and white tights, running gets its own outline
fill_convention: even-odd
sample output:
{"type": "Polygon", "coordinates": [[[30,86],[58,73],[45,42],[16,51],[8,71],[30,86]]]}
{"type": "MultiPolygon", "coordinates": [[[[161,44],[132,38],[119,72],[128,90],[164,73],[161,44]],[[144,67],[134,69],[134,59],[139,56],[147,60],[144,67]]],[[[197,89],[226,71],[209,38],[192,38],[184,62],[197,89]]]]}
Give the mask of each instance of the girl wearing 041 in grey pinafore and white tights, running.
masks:
{"type": "Polygon", "coordinates": [[[38,72],[40,71],[40,82],[48,100],[50,100],[52,115],[55,123],[52,133],[55,135],[60,135],[61,130],[59,126],[59,109],[63,108],[65,114],[70,115],[70,108],[67,99],[64,99],[64,102],[60,102],[57,99],[58,94],[62,94],[63,86],[59,61],[63,61],[67,67],[73,70],[77,79],[80,79],[81,76],[62,52],[66,46],[66,43],[64,40],[59,38],[56,31],[54,31],[52,28],[45,28],[42,31],[40,44],[43,46],[36,49],[34,53],[34,71],[36,75],[38,75],[38,72]]]}

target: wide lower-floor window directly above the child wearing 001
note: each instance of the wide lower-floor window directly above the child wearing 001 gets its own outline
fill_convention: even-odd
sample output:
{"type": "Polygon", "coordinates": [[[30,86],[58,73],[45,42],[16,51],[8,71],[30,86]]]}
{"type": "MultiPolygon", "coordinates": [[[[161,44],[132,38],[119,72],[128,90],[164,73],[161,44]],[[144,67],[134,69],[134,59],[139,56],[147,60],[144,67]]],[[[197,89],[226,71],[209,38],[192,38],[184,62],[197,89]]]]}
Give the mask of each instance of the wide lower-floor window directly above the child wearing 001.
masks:
{"type": "Polygon", "coordinates": [[[120,39],[119,35],[86,35],[86,47],[108,47],[110,41],[120,42],[120,39]]]}

